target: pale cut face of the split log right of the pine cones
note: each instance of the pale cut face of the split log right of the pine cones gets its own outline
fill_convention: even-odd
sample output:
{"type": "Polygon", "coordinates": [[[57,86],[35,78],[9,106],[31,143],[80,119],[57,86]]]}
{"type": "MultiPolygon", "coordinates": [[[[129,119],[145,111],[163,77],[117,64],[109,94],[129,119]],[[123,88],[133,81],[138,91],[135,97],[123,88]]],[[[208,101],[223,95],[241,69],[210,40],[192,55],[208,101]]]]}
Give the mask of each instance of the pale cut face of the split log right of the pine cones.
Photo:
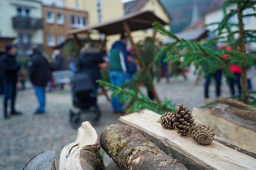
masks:
{"type": "Polygon", "coordinates": [[[256,141],[256,131],[243,126],[243,121],[246,121],[243,118],[236,123],[235,119],[227,119],[210,109],[197,107],[193,108],[192,114],[197,122],[208,124],[217,139],[256,153],[256,142],[252,142],[256,141]]]}

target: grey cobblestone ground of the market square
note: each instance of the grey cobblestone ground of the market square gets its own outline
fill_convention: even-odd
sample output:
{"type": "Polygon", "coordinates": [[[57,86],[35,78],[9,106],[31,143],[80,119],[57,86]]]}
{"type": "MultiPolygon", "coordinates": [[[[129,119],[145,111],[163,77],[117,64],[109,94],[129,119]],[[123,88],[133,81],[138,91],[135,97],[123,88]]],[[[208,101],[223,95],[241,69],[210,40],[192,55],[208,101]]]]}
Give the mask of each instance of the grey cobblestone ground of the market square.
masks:
{"type": "MultiPolygon", "coordinates": [[[[256,78],[253,85],[256,86],[256,78]]],[[[166,84],[162,79],[155,84],[156,91],[161,100],[171,99],[175,104],[184,103],[191,109],[194,106],[204,105],[203,85],[204,80],[194,85],[195,76],[188,74],[188,80],[183,78],[171,78],[166,84]]],[[[210,88],[210,95],[214,99],[214,81],[210,88]]],[[[68,86],[68,85],[67,85],[68,86]]],[[[142,89],[145,91],[145,89],[142,89]]],[[[223,79],[222,96],[229,96],[229,89],[223,79]]],[[[0,97],[0,110],[3,97],[0,97]]],[[[22,169],[26,163],[36,154],[49,149],[56,150],[59,160],[62,148],[76,140],[76,130],[72,129],[68,122],[69,109],[72,107],[70,91],[53,91],[47,93],[47,113],[45,115],[33,115],[37,107],[37,100],[33,89],[18,92],[16,108],[23,115],[13,116],[9,120],[0,118],[0,169],[22,169]]],[[[100,123],[95,126],[98,133],[110,124],[115,124],[120,115],[113,115],[110,103],[105,96],[99,96],[98,103],[102,117],[100,123]]],[[[85,118],[86,119],[86,118],[85,118]]],[[[104,154],[104,151],[101,151],[104,154]]],[[[110,159],[104,154],[105,165],[110,159]]]]}

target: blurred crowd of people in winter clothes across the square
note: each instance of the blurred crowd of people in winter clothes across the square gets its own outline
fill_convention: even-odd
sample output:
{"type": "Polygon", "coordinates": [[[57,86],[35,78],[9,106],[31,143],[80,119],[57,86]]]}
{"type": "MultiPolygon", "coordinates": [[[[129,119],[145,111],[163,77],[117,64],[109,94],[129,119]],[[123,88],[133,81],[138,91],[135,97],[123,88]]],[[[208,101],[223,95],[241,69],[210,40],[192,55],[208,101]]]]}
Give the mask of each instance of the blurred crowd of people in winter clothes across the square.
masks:
{"type": "MultiPolygon", "coordinates": [[[[104,67],[108,67],[108,81],[116,86],[120,86],[125,81],[130,81],[132,76],[136,73],[138,68],[138,60],[134,54],[134,49],[131,45],[127,45],[128,39],[122,34],[119,41],[113,43],[111,49],[107,53],[103,50],[105,41],[100,41],[97,48],[92,47],[91,43],[85,43],[80,49],[80,54],[76,57],[73,56],[67,67],[64,64],[64,57],[59,49],[55,49],[52,52],[52,56],[44,55],[38,49],[37,46],[32,47],[32,55],[29,57],[27,65],[21,65],[16,60],[17,50],[14,46],[7,45],[5,47],[5,53],[0,60],[0,93],[4,95],[4,118],[8,119],[11,115],[21,115],[22,113],[15,109],[15,97],[18,89],[26,89],[27,77],[33,85],[35,95],[37,97],[39,106],[35,111],[35,114],[45,113],[45,92],[51,91],[52,88],[58,87],[64,89],[64,83],[60,83],[57,86],[54,83],[52,77],[53,71],[61,71],[69,69],[73,74],[83,73],[90,77],[93,85],[93,93],[97,96],[97,89],[99,84],[95,81],[101,79],[101,70],[104,67]],[[10,112],[8,112],[8,101],[11,101],[10,112]]],[[[233,47],[227,46],[222,43],[219,46],[216,44],[210,48],[233,50],[233,47]]],[[[246,52],[253,50],[250,44],[246,44],[246,52]]],[[[164,62],[166,54],[160,59],[162,77],[166,78],[166,82],[169,83],[170,72],[175,74],[175,64],[164,62]]],[[[224,55],[223,57],[230,57],[224,55]]],[[[248,89],[252,90],[252,76],[255,72],[255,66],[252,66],[247,71],[248,89]]],[[[230,87],[230,94],[232,96],[241,94],[241,67],[237,65],[230,65],[230,70],[234,73],[234,76],[229,78],[228,85],[230,87]],[[236,87],[238,92],[236,92],[236,87]]],[[[180,69],[177,67],[177,72],[186,79],[186,72],[189,68],[180,69]]],[[[207,68],[202,68],[207,70],[207,68]]],[[[172,75],[171,74],[171,75],[172,75]]],[[[221,96],[221,79],[222,68],[212,72],[206,76],[204,84],[204,98],[207,103],[212,102],[209,96],[209,85],[211,79],[215,79],[216,97],[221,96]]],[[[148,93],[150,98],[152,94],[148,93]],[[150,96],[151,95],[151,96],[150,96]]],[[[119,96],[111,98],[113,113],[123,113],[123,104],[119,101],[119,96]]]]}

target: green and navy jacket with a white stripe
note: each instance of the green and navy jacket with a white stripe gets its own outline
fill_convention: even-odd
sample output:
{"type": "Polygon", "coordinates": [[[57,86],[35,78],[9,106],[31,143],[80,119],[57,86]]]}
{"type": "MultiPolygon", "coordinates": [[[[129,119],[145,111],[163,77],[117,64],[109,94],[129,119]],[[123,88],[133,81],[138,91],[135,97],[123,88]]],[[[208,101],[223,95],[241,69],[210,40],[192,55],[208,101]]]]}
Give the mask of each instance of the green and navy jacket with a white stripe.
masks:
{"type": "Polygon", "coordinates": [[[116,41],[110,50],[109,71],[127,72],[127,50],[126,45],[116,41]]]}

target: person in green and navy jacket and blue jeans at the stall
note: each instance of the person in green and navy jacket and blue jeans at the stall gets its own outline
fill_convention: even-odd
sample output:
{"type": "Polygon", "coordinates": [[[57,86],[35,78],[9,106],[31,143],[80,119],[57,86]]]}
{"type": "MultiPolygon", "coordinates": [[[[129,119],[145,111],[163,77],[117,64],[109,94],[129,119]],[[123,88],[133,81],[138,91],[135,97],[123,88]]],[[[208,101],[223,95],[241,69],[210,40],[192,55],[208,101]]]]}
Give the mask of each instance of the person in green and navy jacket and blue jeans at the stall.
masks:
{"type": "MultiPolygon", "coordinates": [[[[110,83],[120,86],[125,82],[125,73],[127,72],[127,38],[121,35],[120,41],[116,41],[110,50],[109,56],[109,78],[110,83]]],[[[114,113],[123,113],[122,103],[119,101],[120,96],[111,98],[114,113]]]]}

